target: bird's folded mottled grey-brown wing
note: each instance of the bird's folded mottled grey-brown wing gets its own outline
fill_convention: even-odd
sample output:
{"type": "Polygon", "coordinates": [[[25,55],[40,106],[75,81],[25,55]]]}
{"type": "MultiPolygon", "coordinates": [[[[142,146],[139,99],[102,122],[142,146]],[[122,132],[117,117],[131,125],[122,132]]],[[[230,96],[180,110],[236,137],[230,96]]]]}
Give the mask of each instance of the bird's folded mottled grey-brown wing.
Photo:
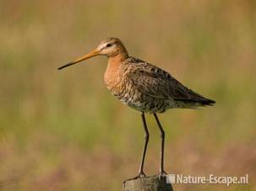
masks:
{"type": "Polygon", "coordinates": [[[168,72],[156,66],[142,65],[129,75],[130,79],[144,93],[153,98],[176,99],[177,101],[204,102],[208,99],[194,93],[178,82],[168,72]]]}

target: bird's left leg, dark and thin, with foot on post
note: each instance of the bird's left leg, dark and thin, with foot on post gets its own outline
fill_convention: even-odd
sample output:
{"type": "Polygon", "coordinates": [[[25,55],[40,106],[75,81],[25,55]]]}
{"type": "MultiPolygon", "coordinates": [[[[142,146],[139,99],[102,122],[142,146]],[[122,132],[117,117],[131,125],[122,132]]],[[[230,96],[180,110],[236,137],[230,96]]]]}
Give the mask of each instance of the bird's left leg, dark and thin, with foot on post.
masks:
{"type": "Polygon", "coordinates": [[[141,113],[141,118],[142,118],[142,122],[143,122],[143,126],[144,126],[144,149],[142,152],[142,158],[141,158],[141,162],[140,162],[140,166],[139,166],[139,174],[138,176],[134,177],[134,178],[128,178],[125,181],[123,181],[123,183],[127,182],[128,180],[134,180],[137,178],[144,178],[146,177],[145,173],[144,173],[144,157],[146,155],[146,151],[147,151],[147,146],[148,146],[148,142],[150,140],[150,134],[149,134],[149,130],[147,128],[147,124],[146,124],[146,120],[144,117],[144,112],[141,113]]]}

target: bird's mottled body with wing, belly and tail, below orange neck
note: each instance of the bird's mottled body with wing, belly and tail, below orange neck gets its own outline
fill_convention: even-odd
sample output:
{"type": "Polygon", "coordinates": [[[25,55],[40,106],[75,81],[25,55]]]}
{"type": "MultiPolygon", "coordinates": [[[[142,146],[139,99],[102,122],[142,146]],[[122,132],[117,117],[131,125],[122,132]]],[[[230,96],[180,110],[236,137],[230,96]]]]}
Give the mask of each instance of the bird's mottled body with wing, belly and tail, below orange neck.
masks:
{"type": "Polygon", "coordinates": [[[215,101],[186,88],[168,72],[129,56],[119,66],[115,87],[108,87],[123,103],[142,112],[212,105],[215,101]]]}

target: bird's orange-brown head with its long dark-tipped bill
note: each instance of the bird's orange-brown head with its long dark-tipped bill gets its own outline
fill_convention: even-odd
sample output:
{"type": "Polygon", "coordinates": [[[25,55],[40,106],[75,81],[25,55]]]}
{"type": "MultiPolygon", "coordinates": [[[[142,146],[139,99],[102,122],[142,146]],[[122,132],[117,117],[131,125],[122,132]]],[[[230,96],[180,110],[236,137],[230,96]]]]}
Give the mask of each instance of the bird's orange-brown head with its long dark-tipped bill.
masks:
{"type": "Polygon", "coordinates": [[[103,40],[100,45],[98,45],[95,50],[92,50],[90,53],[79,57],[78,59],[74,60],[74,61],[70,61],[68,62],[68,64],[65,64],[64,66],[61,66],[57,69],[61,70],[64,67],[68,67],[68,66],[72,66],[76,63],[79,63],[80,61],[84,61],[87,60],[91,57],[94,56],[108,56],[108,57],[112,57],[112,56],[117,56],[117,55],[122,55],[124,57],[128,56],[128,52],[125,49],[123,43],[121,40],[117,39],[117,38],[108,38],[106,40],[103,40]]]}

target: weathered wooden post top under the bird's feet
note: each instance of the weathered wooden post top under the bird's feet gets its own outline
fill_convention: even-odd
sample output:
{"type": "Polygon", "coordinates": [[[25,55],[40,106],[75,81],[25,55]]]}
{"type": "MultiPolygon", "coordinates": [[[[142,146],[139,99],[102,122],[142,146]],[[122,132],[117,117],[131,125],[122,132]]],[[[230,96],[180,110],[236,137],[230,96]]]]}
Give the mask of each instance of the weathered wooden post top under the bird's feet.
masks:
{"type": "Polygon", "coordinates": [[[173,189],[171,183],[166,183],[165,176],[154,175],[125,181],[123,191],[173,191],[173,189]]]}

